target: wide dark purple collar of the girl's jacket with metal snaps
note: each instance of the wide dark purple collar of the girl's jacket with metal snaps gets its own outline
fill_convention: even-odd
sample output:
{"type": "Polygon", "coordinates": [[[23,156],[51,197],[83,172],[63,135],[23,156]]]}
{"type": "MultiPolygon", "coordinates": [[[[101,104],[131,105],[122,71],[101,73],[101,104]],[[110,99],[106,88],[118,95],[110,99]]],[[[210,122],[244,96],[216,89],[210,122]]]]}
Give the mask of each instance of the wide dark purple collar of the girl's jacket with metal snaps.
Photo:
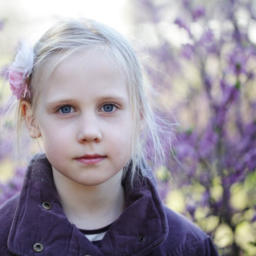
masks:
{"type": "Polygon", "coordinates": [[[67,220],[54,186],[52,167],[44,154],[36,155],[25,175],[9,234],[9,250],[16,255],[38,255],[33,245],[41,243],[43,255],[147,254],[166,239],[166,214],[148,177],[139,176],[133,186],[126,177],[124,186],[126,209],[96,247],[67,220]],[[52,209],[44,209],[44,201],[50,202],[52,209]]]}

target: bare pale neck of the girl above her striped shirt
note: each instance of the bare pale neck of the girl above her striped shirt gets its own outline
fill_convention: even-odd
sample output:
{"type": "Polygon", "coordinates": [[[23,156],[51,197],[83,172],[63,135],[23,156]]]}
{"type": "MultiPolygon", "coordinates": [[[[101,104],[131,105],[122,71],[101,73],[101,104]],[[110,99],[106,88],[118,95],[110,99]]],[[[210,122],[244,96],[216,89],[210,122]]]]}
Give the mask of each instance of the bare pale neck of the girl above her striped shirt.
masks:
{"type": "Polygon", "coordinates": [[[114,222],[124,211],[122,171],[103,184],[84,186],[53,169],[54,183],[63,210],[79,229],[99,229],[114,222]]]}

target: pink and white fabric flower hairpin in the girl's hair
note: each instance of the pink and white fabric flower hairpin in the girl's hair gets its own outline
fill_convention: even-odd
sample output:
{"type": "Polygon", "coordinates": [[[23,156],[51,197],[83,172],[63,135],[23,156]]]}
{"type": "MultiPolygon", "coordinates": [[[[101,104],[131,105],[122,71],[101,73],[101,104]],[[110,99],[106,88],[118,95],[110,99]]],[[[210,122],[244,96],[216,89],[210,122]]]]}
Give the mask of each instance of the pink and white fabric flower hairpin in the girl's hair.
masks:
{"type": "Polygon", "coordinates": [[[23,98],[26,97],[26,94],[30,97],[26,79],[31,73],[33,61],[33,48],[26,40],[22,40],[15,61],[9,67],[9,83],[11,85],[11,91],[17,99],[21,99],[22,94],[23,98]]]}

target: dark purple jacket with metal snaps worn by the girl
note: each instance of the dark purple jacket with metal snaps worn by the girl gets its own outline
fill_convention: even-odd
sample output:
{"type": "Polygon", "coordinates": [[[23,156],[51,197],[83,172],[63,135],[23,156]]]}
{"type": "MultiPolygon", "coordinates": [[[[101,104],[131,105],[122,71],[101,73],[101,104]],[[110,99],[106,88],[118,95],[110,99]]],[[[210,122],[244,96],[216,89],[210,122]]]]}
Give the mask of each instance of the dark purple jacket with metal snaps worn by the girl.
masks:
{"type": "Polygon", "coordinates": [[[209,236],[162,205],[150,179],[140,177],[133,188],[126,179],[124,186],[126,210],[99,245],[93,245],[67,220],[51,165],[45,155],[36,155],[29,164],[20,195],[0,207],[0,255],[218,255],[209,236]],[[49,203],[42,206],[45,201],[49,203]]]}

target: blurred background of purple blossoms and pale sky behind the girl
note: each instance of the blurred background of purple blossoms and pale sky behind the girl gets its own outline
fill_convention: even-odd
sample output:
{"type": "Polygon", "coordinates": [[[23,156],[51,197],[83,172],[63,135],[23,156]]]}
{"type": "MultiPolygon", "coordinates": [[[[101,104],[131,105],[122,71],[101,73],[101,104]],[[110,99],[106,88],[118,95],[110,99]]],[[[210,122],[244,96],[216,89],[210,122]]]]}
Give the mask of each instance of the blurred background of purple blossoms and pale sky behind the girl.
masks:
{"type": "Polygon", "coordinates": [[[155,170],[163,202],[222,256],[255,256],[255,0],[0,0],[0,204],[18,193],[26,166],[11,158],[4,75],[20,40],[33,45],[62,17],[93,18],[147,47],[149,79],[179,123],[172,161],[155,170]]]}

